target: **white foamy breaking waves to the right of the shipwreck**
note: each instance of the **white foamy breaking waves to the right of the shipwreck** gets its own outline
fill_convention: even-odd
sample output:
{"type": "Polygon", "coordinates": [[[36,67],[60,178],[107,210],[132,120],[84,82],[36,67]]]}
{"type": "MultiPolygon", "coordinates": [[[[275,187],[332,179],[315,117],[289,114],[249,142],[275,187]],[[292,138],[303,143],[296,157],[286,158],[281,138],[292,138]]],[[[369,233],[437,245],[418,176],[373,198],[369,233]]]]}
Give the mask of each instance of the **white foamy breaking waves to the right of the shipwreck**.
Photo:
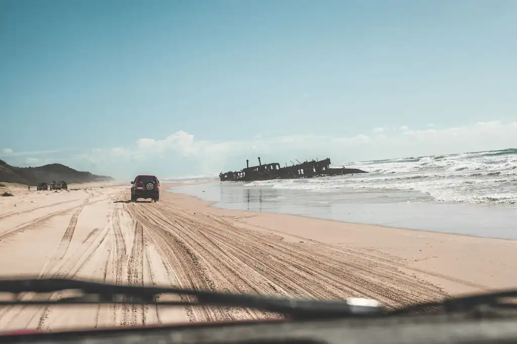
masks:
{"type": "MultiPolygon", "coordinates": [[[[428,157],[409,157],[377,161],[334,164],[353,166],[368,175],[348,175],[294,180],[267,180],[247,186],[306,190],[315,193],[369,193],[416,191],[446,202],[517,204],[517,149],[472,152],[428,157]]],[[[400,196],[400,193],[398,193],[400,196]]],[[[411,195],[411,196],[410,196],[411,195]]],[[[378,194],[377,194],[378,196],[378,194]]]]}

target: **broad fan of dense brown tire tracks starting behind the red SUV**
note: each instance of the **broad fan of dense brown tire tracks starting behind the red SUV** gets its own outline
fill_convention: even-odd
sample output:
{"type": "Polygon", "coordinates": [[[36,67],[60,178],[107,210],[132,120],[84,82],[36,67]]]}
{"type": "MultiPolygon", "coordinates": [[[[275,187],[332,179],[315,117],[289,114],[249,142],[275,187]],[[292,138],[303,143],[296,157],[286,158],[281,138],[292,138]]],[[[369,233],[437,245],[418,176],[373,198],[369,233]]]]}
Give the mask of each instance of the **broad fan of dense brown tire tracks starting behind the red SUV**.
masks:
{"type": "MultiPolygon", "coordinates": [[[[149,228],[172,267],[180,267],[176,272],[181,282],[194,288],[317,299],[366,296],[391,308],[448,296],[381,259],[364,259],[340,247],[285,242],[214,216],[200,218],[165,202],[128,209],[149,228]]],[[[237,317],[225,313],[214,316],[237,317]]]]}

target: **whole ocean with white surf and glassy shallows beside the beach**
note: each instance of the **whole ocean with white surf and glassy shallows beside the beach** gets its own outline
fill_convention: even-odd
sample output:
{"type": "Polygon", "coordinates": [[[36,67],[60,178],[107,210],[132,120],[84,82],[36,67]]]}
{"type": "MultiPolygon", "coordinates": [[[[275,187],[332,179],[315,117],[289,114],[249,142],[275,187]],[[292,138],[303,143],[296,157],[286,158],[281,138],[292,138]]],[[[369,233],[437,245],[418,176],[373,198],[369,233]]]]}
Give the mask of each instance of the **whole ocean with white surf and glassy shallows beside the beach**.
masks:
{"type": "Polygon", "coordinates": [[[369,173],[224,183],[197,176],[173,190],[228,209],[517,239],[517,149],[332,164],[341,166],[369,173]],[[189,185],[199,181],[217,183],[189,185]]]}

